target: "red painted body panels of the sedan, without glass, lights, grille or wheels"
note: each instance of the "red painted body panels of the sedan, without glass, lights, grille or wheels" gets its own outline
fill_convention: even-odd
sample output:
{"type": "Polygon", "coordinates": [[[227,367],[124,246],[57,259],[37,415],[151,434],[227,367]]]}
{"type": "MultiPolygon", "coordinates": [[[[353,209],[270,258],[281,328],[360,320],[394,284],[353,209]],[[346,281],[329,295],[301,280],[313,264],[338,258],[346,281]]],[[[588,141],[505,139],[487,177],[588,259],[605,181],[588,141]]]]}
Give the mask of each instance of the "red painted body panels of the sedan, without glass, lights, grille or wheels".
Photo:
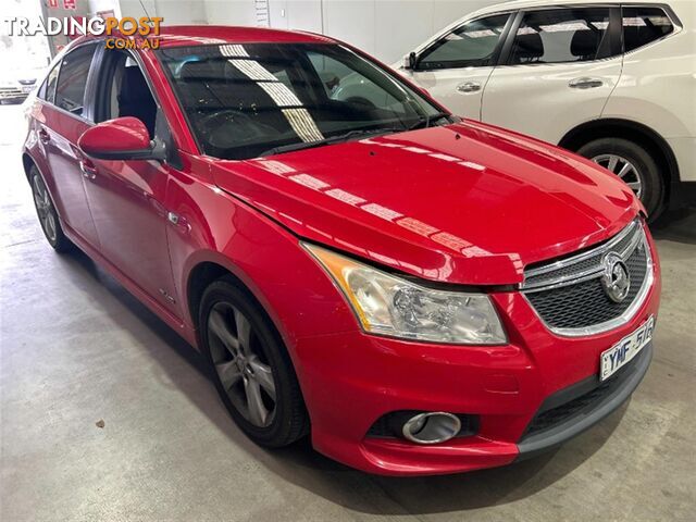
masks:
{"type": "MultiPolygon", "coordinates": [[[[319,38],[221,27],[169,34],[169,45],[319,38]]],[[[544,398],[595,374],[601,351],[657,313],[659,263],[650,238],[655,286],[635,319],[612,332],[557,337],[519,293],[498,290],[492,296],[507,346],[365,335],[298,236],[440,283],[514,284],[527,263],[601,241],[643,209],[593,163],[474,122],[217,161],[199,154],[158,62],[139,52],[181,169],[94,160],[96,176],[87,179],[74,144],[91,124],[40,100],[30,110],[25,161],[46,178],[67,235],[191,345],[188,299],[197,268],[219,264],[247,285],[287,345],[312,443],[325,455],[384,474],[508,463],[544,398]],[[167,211],[181,216],[177,225],[166,221],[167,211]],[[378,417],[402,409],[477,413],[481,431],[435,447],[365,439],[378,417]]]]}

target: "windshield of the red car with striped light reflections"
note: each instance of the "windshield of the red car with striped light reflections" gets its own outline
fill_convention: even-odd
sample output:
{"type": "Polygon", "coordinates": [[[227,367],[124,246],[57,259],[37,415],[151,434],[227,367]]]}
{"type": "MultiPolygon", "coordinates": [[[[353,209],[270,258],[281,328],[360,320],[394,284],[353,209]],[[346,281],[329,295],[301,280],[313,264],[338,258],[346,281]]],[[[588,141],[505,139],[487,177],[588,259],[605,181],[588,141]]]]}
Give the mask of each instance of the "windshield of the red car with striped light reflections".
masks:
{"type": "Polygon", "coordinates": [[[176,47],[158,55],[200,147],[215,158],[257,158],[447,116],[338,45],[176,47]]]}

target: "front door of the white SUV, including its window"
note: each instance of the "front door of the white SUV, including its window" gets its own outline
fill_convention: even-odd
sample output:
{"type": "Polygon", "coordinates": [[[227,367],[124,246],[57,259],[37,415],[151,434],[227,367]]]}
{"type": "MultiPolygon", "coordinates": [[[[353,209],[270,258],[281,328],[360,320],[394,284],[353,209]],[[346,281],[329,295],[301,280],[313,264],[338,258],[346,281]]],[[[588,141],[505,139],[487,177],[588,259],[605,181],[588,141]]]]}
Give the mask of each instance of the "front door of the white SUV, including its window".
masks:
{"type": "Polygon", "coordinates": [[[481,101],[502,48],[511,13],[464,22],[420,53],[413,71],[403,71],[455,114],[481,119],[481,101]]]}

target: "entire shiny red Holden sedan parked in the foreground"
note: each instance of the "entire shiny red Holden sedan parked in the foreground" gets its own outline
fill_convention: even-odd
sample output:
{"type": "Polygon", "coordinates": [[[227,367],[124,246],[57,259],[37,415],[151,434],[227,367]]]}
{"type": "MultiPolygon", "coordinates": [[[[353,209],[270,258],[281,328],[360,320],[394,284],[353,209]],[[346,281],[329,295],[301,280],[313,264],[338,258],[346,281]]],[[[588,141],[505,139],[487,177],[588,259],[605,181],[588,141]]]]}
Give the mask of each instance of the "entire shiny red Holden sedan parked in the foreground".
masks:
{"type": "Polygon", "coordinates": [[[197,347],[258,444],[310,435],[383,474],[501,465],[601,420],[648,369],[659,268],[631,188],[350,46],[83,38],[28,116],[49,243],[197,347]]]}

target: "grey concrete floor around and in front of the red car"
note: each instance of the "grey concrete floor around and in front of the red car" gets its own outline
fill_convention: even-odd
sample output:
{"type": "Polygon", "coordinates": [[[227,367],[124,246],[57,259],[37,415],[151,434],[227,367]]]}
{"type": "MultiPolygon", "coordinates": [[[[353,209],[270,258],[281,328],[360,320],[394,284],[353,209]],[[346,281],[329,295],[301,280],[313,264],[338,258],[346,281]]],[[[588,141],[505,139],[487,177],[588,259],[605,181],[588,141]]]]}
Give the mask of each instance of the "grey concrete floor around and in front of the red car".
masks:
{"type": "Polygon", "coordinates": [[[656,226],[657,352],[629,405],[535,460],[374,477],[250,444],[197,352],[84,254],[53,253],[20,114],[0,108],[0,520],[694,520],[696,212],[656,226]]]}

